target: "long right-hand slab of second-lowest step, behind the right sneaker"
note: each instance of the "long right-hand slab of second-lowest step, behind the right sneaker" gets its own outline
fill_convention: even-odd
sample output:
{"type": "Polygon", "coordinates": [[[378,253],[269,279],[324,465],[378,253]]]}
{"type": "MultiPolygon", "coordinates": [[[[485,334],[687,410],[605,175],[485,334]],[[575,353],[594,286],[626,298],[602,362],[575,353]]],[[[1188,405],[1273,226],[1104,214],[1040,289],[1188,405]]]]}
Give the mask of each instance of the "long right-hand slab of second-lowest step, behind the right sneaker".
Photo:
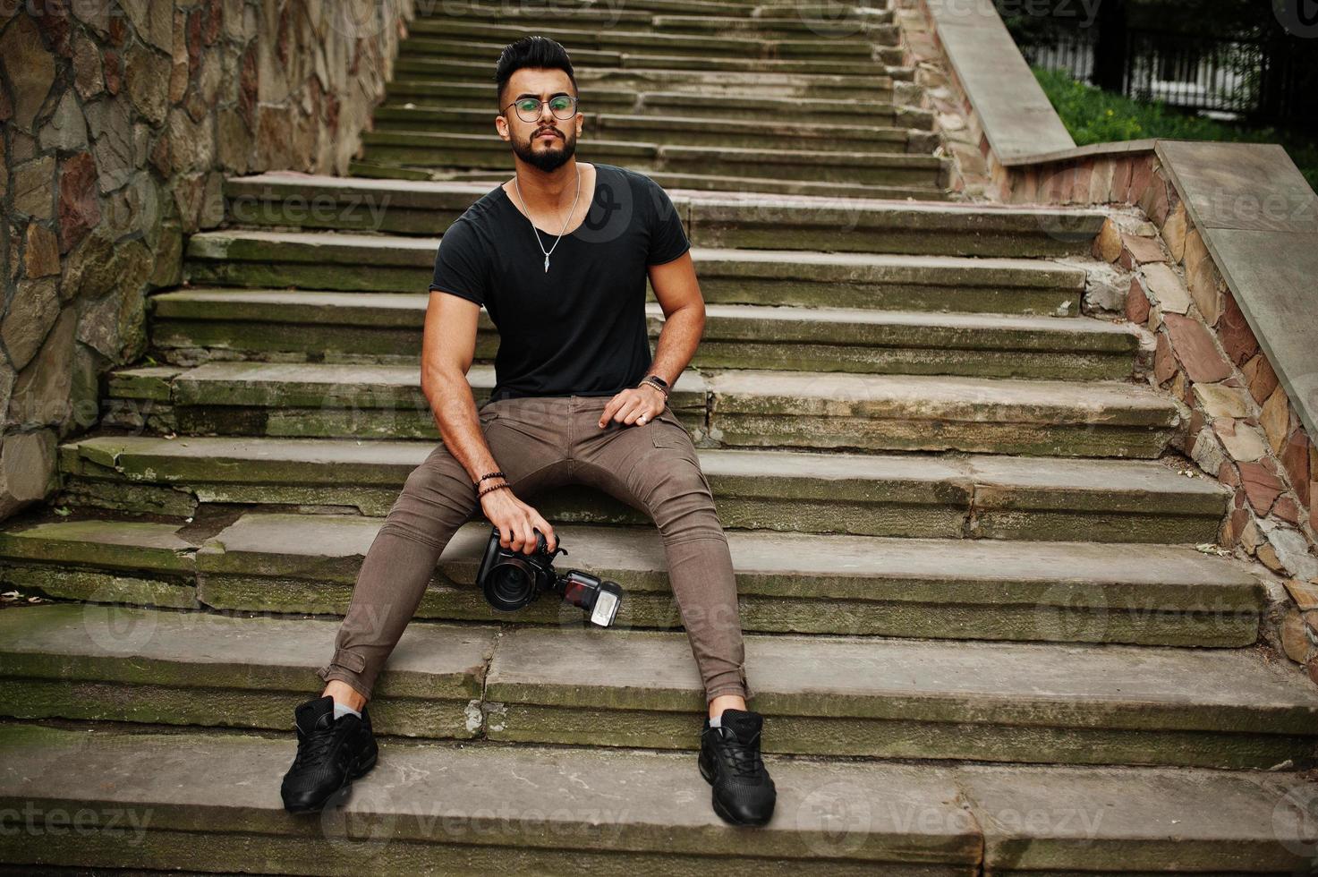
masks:
{"type": "MultiPolygon", "coordinates": [[[[492,740],[687,748],[680,633],[521,628],[485,679],[492,740]],[[618,633],[618,632],[613,632],[618,633]],[[584,667],[589,671],[583,673],[584,667]],[[604,742],[604,740],[598,740],[604,742]]],[[[1257,650],[745,637],[767,752],[1053,764],[1311,764],[1318,690],[1257,650]]]]}

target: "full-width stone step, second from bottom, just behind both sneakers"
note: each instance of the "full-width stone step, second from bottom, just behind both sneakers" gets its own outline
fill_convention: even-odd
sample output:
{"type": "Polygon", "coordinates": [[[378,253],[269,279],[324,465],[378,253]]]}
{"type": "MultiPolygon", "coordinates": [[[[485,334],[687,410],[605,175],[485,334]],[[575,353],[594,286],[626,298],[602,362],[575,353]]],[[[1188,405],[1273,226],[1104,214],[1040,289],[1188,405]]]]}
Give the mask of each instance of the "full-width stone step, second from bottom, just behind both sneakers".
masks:
{"type": "MultiPolygon", "coordinates": [[[[121,605],[0,612],[0,713],[285,729],[336,620],[121,605]]],[[[1318,691],[1257,649],[747,634],[771,753],[1206,768],[1307,765],[1318,691]],[[838,674],[845,670],[845,674],[838,674]]],[[[378,732],[689,749],[683,633],[414,622],[378,732]]]]}

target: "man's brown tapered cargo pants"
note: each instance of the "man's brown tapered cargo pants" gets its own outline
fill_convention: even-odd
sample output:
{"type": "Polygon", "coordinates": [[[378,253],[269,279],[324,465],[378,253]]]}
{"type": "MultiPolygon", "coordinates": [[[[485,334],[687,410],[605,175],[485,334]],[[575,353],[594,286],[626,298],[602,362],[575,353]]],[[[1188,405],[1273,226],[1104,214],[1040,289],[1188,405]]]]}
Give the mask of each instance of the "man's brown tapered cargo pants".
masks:
{"type": "MultiPolygon", "coordinates": [[[[480,410],[481,430],[519,499],[587,484],[647,513],[663,537],[668,582],[706,702],[749,696],[731,555],[696,447],[667,406],[647,423],[609,421],[601,429],[609,398],[505,398],[480,410]]],[[[333,657],[318,671],[322,679],[340,679],[370,696],[444,546],[478,508],[472,477],[440,442],[407,476],[376,534],[333,657]]]]}

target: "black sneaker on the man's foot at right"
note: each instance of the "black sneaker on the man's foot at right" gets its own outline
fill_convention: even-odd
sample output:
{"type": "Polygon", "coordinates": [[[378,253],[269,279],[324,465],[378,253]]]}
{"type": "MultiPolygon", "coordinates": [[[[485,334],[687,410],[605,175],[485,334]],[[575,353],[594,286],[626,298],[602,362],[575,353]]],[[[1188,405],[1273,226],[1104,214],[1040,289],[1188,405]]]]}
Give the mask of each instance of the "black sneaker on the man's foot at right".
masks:
{"type": "Polygon", "coordinates": [[[718,728],[700,732],[700,775],[714,787],[714,812],[735,826],[763,826],[774,815],[778,790],[759,757],[763,716],[724,710],[718,728]]]}

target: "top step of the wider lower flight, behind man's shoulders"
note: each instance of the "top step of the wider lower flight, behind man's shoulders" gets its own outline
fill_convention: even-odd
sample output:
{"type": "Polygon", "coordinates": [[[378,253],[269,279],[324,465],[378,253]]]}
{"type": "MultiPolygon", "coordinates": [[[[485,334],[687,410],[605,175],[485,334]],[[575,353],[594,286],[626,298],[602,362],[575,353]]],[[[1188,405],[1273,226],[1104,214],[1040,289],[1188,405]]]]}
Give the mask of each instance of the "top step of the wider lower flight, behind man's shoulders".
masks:
{"type": "MultiPolygon", "coordinates": [[[[502,182],[506,174],[500,175],[502,182]]],[[[498,183],[365,181],[294,173],[231,177],[228,215],[294,226],[434,236],[498,183]]],[[[693,247],[928,256],[1083,256],[1095,210],[938,204],[880,198],[668,193],[693,247]]]]}

